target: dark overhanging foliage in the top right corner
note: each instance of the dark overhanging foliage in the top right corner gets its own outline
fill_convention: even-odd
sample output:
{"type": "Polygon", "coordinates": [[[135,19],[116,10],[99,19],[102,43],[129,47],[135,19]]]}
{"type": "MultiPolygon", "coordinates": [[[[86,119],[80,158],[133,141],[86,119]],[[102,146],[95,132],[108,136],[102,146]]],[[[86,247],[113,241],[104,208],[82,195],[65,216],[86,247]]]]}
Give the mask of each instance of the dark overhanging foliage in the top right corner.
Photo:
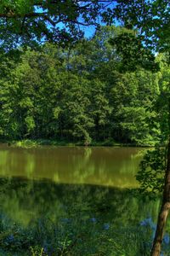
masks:
{"type": "MultiPolygon", "coordinates": [[[[105,11],[105,22],[111,24],[115,19],[122,21],[128,29],[135,28],[142,35],[147,49],[169,52],[169,9],[168,1],[116,1],[114,9],[105,11]]],[[[138,46],[136,45],[138,48],[138,46]]],[[[138,55],[138,54],[137,54],[138,55]]]]}

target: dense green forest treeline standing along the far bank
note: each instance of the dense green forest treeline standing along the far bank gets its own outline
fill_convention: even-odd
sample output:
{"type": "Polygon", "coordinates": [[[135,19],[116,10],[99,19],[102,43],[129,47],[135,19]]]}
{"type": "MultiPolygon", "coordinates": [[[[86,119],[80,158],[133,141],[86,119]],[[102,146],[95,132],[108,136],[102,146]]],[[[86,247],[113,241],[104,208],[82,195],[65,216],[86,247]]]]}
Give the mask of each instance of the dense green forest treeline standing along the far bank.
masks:
{"type": "Polygon", "coordinates": [[[114,141],[152,145],[160,140],[156,102],[165,85],[159,72],[126,71],[111,38],[123,28],[103,26],[93,38],[63,49],[43,44],[2,54],[0,137],[90,144],[114,141]]]}

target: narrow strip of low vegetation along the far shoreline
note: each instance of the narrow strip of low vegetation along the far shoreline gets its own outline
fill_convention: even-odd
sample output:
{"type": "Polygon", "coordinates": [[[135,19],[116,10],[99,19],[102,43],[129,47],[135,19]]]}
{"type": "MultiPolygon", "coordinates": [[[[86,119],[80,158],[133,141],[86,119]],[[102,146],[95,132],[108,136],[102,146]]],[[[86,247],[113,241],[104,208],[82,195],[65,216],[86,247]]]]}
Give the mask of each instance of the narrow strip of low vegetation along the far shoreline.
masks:
{"type": "Polygon", "coordinates": [[[79,142],[68,142],[64,140],[50,140],[50,139],[23,139],[16,141],[0,140],[1,144],[7,144],[8,147],[16,148],[39,148],[41,146],[54,146],[54,147],[137,147],[137,148],[153,148],[154,145],[151,144],[134,144],[134,143],[116,143],[113,140],[105,140],[103,142],[91,142],[90,144],[85,144],[81,141],[79,142]]]}

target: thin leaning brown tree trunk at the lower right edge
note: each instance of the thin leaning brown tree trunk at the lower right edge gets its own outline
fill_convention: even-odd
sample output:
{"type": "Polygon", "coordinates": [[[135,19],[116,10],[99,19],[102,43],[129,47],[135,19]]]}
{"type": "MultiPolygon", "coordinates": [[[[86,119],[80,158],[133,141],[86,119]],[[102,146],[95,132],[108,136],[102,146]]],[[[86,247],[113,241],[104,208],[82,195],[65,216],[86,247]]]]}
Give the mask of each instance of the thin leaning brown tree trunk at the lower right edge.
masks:
{"type": "MultiPolygon", "coordinates": [[[[170,98],[168,101],[169,113],[168,121],[170,124],[170,98]]],[[[169,125],[170,127],[170,125],[169,125]]],[[[165,185],[163,191],[163,198],[161,203],[161,210],[159,212],[157,226],[156,226],[156,235],[154,238],[152,250],[150,256],[159,256],[161,253],[161,242],[163,240],[163,235],[165,231],[165,225],[167,221],[167,215],[170,209],[170,135],[168,135],[168,144],[167,144],[167,169],[165,174],[165,185]]]]}

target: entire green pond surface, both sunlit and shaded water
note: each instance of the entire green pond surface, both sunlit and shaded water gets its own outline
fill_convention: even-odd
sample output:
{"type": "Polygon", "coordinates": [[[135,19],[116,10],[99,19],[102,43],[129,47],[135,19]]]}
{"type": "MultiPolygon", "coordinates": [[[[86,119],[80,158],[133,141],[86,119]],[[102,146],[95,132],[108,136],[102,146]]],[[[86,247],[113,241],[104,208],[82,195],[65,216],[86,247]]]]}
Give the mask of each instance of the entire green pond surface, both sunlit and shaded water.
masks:
{"type": "Polygon", "coordinates": [[[10,148],[0,146],[0,210],[28,226],[38,218],[95,218],[121,227],[156,219],[158,201],[127,189],[143,148],[10,148]]]}

